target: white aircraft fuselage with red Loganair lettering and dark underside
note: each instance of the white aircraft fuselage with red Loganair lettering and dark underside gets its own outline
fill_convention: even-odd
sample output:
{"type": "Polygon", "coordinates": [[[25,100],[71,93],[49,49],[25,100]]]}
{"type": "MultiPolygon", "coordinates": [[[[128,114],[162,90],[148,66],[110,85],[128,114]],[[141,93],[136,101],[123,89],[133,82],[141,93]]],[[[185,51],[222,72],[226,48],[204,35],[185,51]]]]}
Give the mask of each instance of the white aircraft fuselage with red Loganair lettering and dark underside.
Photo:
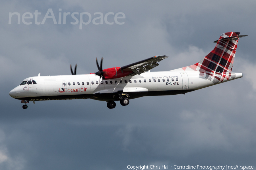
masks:
{"type": "MultiPolygon", "coordinates": [[[[234,74],[233,78],[223,79],[218,83],[243,76],[242,73],[232,74],[234,74]]],[[[199,71],[182,69],[145,72],[135,76],[101,80],[101,82],[99,82],[100,77],[95,74],[35,76],[23,81],[34,80],[36,84],[19,85],[11,90],[10,95],[16,99],[29,101],[87,98],[115,101],[119,100],[116,95],[118,93],[129,94],[132,99],[145,95],[184,94],[214,85],[206,76],[206,73],[202,75],[199,71]]]]}

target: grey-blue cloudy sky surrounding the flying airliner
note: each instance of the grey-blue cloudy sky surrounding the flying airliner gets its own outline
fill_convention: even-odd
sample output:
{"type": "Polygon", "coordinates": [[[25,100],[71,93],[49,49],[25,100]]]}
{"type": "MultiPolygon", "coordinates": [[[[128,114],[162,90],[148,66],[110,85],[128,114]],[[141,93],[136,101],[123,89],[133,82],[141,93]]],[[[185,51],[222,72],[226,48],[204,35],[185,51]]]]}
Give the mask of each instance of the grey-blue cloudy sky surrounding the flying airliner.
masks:
{"type": "Polygon", "coordinates": [[[255,7],[254,0],[0,1],[0,169],[256,166],[255,7]],[[49,9],[56,24],[53,18],[43,22],[49,9]],[[41,24],[35,21],[36,10],[41,24]],[[20,24],[17,15],[10,23],[9,12],[20,14],[20,24]],[[33,19],[27,13],[22,20],[26,12],[33,19]],[[66,24],[64,12],[70,12],[66,24]],[[80,23],[90,18],[85,14],[81,21],[81,12],[91,15],[82,29],[80,23]],[[113,12],[107,17],[113,24],[94,24],[96,12],[113,12]],[[117,19],[122,25],[114,20],[118,12],[125,14],[117,19]],[[24,110],[9,96],[38,73],[70,75],[70,64],[78,64],[78,74],[94,73],[96,57],[104,57],[104,68],[155,55],[169,58],[152,71],[192,65],[230,31],[249,35],[238,42],[232,71],[244,76],[234,81],[185,95],[133,99],[125,107],[117,102],[115,109],[86,99],[29,103],[24,110]]]}

